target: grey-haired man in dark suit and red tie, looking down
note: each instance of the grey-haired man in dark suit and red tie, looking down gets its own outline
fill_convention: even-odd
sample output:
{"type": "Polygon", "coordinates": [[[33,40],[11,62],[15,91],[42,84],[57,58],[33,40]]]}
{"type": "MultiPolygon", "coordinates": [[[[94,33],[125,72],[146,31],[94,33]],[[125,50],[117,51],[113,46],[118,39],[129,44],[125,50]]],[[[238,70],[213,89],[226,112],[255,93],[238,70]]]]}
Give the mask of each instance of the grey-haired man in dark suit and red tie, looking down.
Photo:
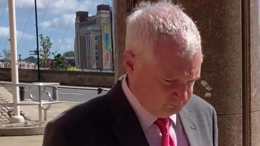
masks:
{"type": "Polygon", "coordinates": [[[127,74],[49,122],[44,146],[217,146],[216,112],[192,94],[200,34],[179,6],[141,3],[127,18],[123,55],[127,74]]]}

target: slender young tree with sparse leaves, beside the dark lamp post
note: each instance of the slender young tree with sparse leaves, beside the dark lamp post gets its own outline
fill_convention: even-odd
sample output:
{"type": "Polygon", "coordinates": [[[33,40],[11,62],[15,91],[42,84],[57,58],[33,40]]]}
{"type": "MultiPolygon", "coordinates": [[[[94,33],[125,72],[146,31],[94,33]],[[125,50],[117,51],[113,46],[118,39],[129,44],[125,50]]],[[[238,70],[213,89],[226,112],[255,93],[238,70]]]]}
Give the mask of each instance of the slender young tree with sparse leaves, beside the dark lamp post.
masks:
{"type": "Polygon", "coordinates": [[[48,59],[51,56],[51,39],[46,36],[44,37],[42,34],[39,35],[40,40],[41,40],[41,48],[40,50],[43,51],[43,54],[41,55],[41,64],[44,65],[44,68],[46,68],[46,59],[48,59]]]}

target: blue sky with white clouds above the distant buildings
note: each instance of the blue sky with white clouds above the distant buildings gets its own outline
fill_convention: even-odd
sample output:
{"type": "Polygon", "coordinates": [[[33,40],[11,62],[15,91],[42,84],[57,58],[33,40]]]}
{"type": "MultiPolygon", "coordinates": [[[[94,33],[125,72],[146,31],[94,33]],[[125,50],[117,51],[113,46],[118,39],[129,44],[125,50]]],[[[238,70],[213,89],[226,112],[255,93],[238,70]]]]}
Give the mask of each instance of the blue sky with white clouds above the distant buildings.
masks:
{"type": "MultiPolygon", "coordinates": [[[[9,41],[7,41],[9,38],[9,16],[7,1],[8,0],[0,0],[1,56],[3,54],[2,50],[4,50],[4,48],[10,48],[9,41]]],[[[74,12],[79,10],[89,11],[90,16],[96,15],[96,6],[99,4],[109,4],[112,6],[112,1],[37,0],[38,34],[43,34],[43,36],[49,36],[51,38],[53,45],[50,52],[57,51],[58,53],[63,54],[64,52],[74,50],[74,12]]],[[[21,54],[21,58],[24,59],[30,56],[30,50],[35,50],[37,48],[34,0],[15,0],[15,7],[17,53],[21,54]]],[[[39,40],[39,48],[40,47],[39,40]]]]}

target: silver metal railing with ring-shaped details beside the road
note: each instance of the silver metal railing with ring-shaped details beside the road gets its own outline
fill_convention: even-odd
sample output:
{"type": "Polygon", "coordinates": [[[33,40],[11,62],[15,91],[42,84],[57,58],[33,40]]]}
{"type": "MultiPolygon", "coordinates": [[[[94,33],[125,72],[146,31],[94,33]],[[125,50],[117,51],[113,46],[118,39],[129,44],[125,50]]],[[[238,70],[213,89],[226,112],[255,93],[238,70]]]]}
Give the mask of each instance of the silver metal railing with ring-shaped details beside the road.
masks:
{"type": "Polygon", "coordinates": [[[1,87],[29,87],[29,97],[32,101],[37,102],[31,102],[31,103],[0,103],[0,106],[27,106],[27,105],[38,105],[38,115],[39,115],[39,126],[42,126],[42,110],[44,110],[44,121],[47,121],[47,110],[51,108],[51,104],[60,103],[61,101],[58,101],[58,92],[57,87],[60,85],[60,83],[47,83],[47,82],[33,82],[30,84],[1,84],[1,87]],[[32,87],[38,87],[38,99],[35,99],[31,93],[32,87]],[[51,94],[46,90],[46,87],[53,87],[53,95],[55,95],[57,100],[53,100],[51,98],[51,94]],[[42,90],[43,88],[43,90],[42,90]],[[42,101],[41,96],[43,94],[47,94],[48,101],[42,101]],[[48,105],[47,107],[43,107],[43,105],[48,105]]]}

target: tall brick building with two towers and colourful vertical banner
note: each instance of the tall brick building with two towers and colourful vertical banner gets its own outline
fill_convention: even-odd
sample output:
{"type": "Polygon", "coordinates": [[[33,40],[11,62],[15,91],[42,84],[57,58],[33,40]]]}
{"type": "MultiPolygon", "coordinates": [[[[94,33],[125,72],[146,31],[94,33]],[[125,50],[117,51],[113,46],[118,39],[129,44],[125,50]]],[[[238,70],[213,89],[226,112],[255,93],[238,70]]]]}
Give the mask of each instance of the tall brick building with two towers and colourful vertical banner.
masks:
{"type": "Polygon", "coordinates": [[[112,68],[112,36],[109,5],[98,5],[96,15],[77,11],[75,18],[75,64],[79,68],[112,68]]]}

